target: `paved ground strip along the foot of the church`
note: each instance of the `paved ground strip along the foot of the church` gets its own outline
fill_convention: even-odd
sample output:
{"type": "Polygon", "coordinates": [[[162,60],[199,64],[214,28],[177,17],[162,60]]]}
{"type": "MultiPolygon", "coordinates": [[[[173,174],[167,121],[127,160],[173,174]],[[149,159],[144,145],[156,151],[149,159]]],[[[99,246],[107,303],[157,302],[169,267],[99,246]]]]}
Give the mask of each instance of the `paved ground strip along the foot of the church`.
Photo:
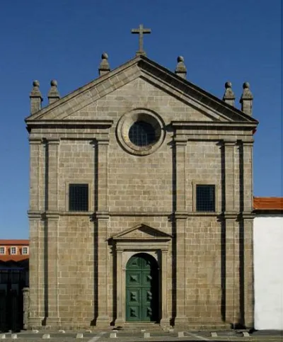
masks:
{"type": "MultiPolygon", "coordinates": [[[[147,331],[146,331],[147,332],[147,331]]],[[[69,342],[69,341],[82,341],[82,342],[150,342],[150,341],[214,341],[214,342],[228,342],[228,341],[253,341],[253,342],[283,342],[283,331],[255,331],[250,336],[243,336],[241,331],[218,331],[217,336],[212,337],[209,331],[183,331],[184,337],[178,337],[180,331],[148,331],[149,338],[144,338],[144,331],[95,331],[93,333],[80,331],[78,333],[65,332],[58,333],[52,331],[39,331],[37,334],[31,331],[23,331],[15,335],[11,333],[0,334],[0,339],[10,342],[42,342],[50,335],[50,342],[69,342]],[[110,337],[110,334],[116,334],[115,337],[110,337]],[[78,336],[77,334],[83,334],[78,336]]],[[[113,336],[113,335],[112,335],[113,336]]],[[[48,340],[47,340],[48,341],[48,340]]]]}

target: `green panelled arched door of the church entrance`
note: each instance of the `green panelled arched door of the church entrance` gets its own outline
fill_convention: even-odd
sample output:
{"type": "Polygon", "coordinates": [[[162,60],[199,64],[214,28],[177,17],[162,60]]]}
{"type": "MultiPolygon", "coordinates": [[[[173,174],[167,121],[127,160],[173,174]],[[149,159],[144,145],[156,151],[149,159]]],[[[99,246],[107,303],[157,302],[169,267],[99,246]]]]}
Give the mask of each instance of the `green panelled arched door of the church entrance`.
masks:
{"type": "Polygon", "coordinates": [[[155,259],[139,253],[126,270],[127,321],[158,321],[158,267],[155,259]]]}

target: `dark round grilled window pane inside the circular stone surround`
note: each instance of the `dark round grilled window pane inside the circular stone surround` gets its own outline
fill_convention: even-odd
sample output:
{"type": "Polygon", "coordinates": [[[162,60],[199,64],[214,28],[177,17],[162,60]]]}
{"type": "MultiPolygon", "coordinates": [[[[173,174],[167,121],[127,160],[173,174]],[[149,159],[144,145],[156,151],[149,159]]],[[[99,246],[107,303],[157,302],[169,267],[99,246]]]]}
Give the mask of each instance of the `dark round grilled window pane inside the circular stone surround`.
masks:
{"type": "Polygon", "coordinates": [[[145,121],[137,121],[129,128],[129,140],[136,146],[148,146],[156,141],[154,127],[145,121]]]}

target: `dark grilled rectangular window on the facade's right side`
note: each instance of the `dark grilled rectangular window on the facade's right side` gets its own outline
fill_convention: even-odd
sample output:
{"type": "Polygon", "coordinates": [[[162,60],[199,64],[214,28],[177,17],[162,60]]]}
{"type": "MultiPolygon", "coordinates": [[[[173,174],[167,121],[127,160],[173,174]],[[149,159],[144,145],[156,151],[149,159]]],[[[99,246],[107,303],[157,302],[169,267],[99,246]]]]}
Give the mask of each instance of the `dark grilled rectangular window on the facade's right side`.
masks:
{"type": "Polygon", "coordinates": [[[215,186],[196,186],[197,212],[215,212],[215,186]]]}

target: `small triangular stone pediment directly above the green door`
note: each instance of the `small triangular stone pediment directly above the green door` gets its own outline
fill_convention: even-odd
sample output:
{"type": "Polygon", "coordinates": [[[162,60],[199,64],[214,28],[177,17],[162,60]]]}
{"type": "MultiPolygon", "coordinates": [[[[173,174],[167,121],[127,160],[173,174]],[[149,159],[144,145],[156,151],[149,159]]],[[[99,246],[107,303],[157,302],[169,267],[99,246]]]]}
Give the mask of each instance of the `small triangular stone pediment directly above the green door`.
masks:
{"type": "Polygon", "coordinates": [[[113,240],[171,240],[172,236],[141,223],[112,236],[113,240]]]}

